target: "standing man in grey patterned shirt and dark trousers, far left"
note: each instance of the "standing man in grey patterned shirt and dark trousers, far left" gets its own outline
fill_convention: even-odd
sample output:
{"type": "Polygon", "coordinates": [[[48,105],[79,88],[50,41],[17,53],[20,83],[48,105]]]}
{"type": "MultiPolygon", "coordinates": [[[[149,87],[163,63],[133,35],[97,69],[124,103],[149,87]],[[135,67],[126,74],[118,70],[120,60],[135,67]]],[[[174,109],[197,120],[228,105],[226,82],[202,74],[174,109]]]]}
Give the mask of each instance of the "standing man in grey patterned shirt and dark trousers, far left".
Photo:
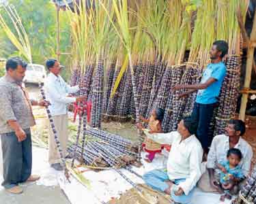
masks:
{"type": "Polygon", "coordinates": [[[19,194],[21,182],[39,180],[31,175],[32,146],[30,127],[35,124],[31,105],[46,106],[46,101],[29,100],[23,84],[27,63],[15,57],[6,62],[0,79],[0,134],[3,152],[3,183],[8,192],[19,194]]]}

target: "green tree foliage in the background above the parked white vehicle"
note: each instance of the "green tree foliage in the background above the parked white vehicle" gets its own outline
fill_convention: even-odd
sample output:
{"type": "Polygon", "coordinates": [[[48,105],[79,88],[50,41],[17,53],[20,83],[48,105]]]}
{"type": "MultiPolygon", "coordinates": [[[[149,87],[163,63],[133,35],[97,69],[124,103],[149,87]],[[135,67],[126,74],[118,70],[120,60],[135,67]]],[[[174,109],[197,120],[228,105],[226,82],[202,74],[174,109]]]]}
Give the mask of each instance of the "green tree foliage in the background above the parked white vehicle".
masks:
{"type": "MultiPolygon", "coordinates": [[[[32,50],[33,63],[44,65],[47,58],[56,58],[56,7],[49,0],[10,0],[14,5],[23,26],[29,36],[32,50]]],[[[1,10],[6,22],[12,29],[8,14],[1,10]]],[[[14,31],[14,29],[12,29],[14,31]]],[[[70,52],[70,26],[65,12],[60,12],[61,52],[70,52]]],[[[0,57],[8,58],[17,55],[18,52],[8,38],[0,31],[0,57]]],[[[61,63],[70,66],[70,56],[61,56],[61,63]]],[[[65,78],[69,76],[69,69],[63,72],[65,78]]]]}

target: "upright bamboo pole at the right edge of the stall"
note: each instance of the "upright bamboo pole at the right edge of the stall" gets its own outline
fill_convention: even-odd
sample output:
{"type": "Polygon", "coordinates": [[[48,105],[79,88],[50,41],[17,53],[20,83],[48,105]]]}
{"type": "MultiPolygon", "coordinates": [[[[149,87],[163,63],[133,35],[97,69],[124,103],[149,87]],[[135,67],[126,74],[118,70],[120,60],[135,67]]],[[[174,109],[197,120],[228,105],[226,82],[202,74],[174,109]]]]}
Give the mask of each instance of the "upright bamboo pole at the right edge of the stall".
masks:
{"type": "MultiPolygon", "coordinates": [[[[248,50],[247,50],[247,60],[246,60],[246,75],[245,75],[245,80],[244,80],[244,89],[248,90],[250,88],[251,84],[251,73],[253,69],[253,54],[254,54],[254,49],[255,45],[253,45],[251,42],[256,40],[256,12],[254,14],[254,19],[253,19],[253,29],[251,31],[251,37],[248,42],[248,50]]],[[[248,93],[244,92],[242,94],[242,101],[241,101],[241,107],[240,107],[240,114],[239,118],[241,120],[244,120],[245,118],[245,111],[246,111],[246,105],[248,101],[248,93]]]]}

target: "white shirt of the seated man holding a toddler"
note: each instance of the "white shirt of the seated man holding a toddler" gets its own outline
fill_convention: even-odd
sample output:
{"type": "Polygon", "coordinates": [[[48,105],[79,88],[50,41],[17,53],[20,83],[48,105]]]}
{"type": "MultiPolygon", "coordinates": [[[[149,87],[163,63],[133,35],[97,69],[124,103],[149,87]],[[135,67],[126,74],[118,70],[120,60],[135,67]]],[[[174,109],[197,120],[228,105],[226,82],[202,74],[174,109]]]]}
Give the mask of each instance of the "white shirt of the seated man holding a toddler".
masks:
{"type": "MultiPolygon", "coordinates": [[[[242,160],[240,165],[245,176],[248,175],[251,169],[251,159],[253,158],[253,149],[247,141],[240,137],[238,143],[234,148],[238,148],[242,152],[242,160]]],[[[229,150],[229,137],[227,135],[216,135],[212,140],[212,145],[208,153],[207,167],[208,169],[215,169],[216,173],[220,173],[216,169],[216,164],[222,160],[227,160],[227,151],[229,150]]]]}

